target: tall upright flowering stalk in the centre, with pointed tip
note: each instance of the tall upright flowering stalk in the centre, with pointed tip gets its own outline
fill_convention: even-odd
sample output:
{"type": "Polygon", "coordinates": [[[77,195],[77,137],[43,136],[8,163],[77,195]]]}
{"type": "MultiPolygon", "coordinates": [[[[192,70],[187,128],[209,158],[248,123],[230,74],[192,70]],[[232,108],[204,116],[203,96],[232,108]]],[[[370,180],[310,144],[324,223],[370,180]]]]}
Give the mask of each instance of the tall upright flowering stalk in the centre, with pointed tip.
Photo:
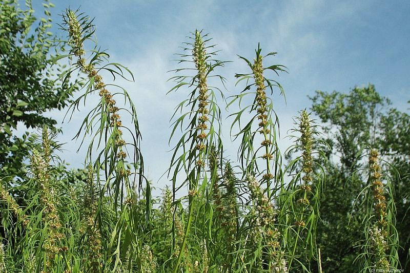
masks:
{"type": "MultiPolygon", "coordinates": [[[[185,247],[187,240],[190,236],[191,225],[194,218],[194,209],[197,207],[198,195],[204,194],[206,185],[199,185],[199,181],[203,178],[207,181],[207,160],[209,158],[209,151],[212,144],[217,147],[218,151],[222,149],[222,143],[220,141],[220,110],[215,101],[215,93],[212,87],[208,86],[207,78],[210,77],[216,67],[222,66],[223,62],[213,60],[211,57],[215,55],[215,52],[207,52],[206,42],[209,39],[204,39],[207,35],[203,35],[201,31],[196,30],[193,33],[193,43],[186,43],[191,48],[185,48],[185,50],[192,50],[192,55],[180,54],[181,57],[192,57],[192,60],[181,59],[183,61],[193,61],[195,64],[196,74],[194,76],[175,76],[172,77],[177,85],[171,89],[171,91],[178,90],[182,86],[194,86],[194,90],[191,92],[191,99],[182,101],[177,107],[182,111],[182,107],[186,103],[188,107],[191,107],[192,112],[183,114],[174,122],[174,129],[171,138],[180,125],[182,126],[183,119],[190,117],[189,130],[183,134],[174,148],[174,155],[171,160],[171,167],[175,165],[175,171],[173,175],[173,191],[174,195],[177,191],[175,181],[179,172],[179,168],[183,165],[186,169],[188,182],[188,220],[185,227],[185,235],[183,237],[178,258],[176,260],[173,272],[175,273],[180,266],[182,256],[185,254],[185,247]],[[187,79],[191,79],[191,82],[187,82],[187,79]],[[186,137],[188,139],[186,139],[186,137]],[[190,148],[186,149],[186,143],[191,140],[190,148]],[[176,154],[179,150],[182,150],[183,154],[176,159],[176,154]],[[203,190],[200,190],[202,188],[203,190]]],[[[184,70],[178,69],[176,72],[184,70]]],[[[220,76],[219,76],[220,77],[220,76]]],[[[222,79],[222,77],[220,77],[222,79]]],[[[171,92],[170,91],[170,92],[171,92]]],[[[175,114],[174,114],[175,115],[175,114]]],[[[171,168],[170,168],[171,171],[171,168]]],[[[211,176],[212,178],[212,176],[211,176]]],[[[214,181],[210,181],[212,185],[214,181]]]]}

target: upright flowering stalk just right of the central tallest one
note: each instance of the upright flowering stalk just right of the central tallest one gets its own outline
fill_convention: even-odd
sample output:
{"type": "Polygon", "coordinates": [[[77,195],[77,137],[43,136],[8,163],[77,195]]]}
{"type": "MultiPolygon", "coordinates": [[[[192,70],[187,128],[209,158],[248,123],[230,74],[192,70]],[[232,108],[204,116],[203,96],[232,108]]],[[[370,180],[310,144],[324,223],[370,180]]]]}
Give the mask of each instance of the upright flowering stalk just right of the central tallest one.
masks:
{"type": "Polygon", "coordinates": [[[251,202],[257,207],[256,211],[251,210],[251,214],[256,214],[256,219],[253,228],[254,235],[252,235],[248,241],[250,245],[253,245],[251,248],[256,248],[254,250],[256,257],[253,259],[260,260],[256,263],[257,270],[271,270],[277,267],[286,271],[286,261],[282,258],[283,253],[280,250],[281,234],[277,227],[275,227],[274,217],[276,212],[272,205],[272,201],[275,199],[280,187],[279,182],[281,181],[280,152],[276,143],[276,127],[278,124],[276,114],[273,110],[272,99],[268,98],[266,94],[267,88],[273,92],[273,88],[278,87],[281,94],[283,94],[283,89],[279,82],[268,79],[263,75],[266,70],[272,70],[278,74],[279,71],[285,71],[285,68],[281,65],[263,67],[263,58],[275,55],[276,53],[271,52],[263,56],[261,55],[259,45],[255,52],[256,58],[253,64],[248,59],[239,56],[247,62],[252,73],[235,75],[239,78],[238,82],[246,80],[247,85],[241,94],[233,96],[229,105],[238,101],[240,106],[240,101],[247,94],[253,94],[255,97],[254,102],[250,106],[231,115],[235,117],[231,125],[231,133],[234,125],[236,123],[240,124],[242,113],[249,109],[249,113],[254,116],[247,125],[240,128],[238,134],[234,135],[235,138],[242,136],[238,156],[242,162],[244,174],[247,175],[248,186],[251,191],[251,202]],[[248,84],[249,79],[253,79],[254,83],[248,84]],[[253,86],[256,86],[256,91],[249,92],[248,90],[253,86]],[[259,120],[257,130],[254,130],[256,127],[254,124],[255,119],[259,120]],[[256,137],[257,133],[262,135],[259,149],[254,148],[254,142],[258,140],[256,137]],[[257,152],[259,150],[264,151],[264,154],[258,156],[257,152]],[[265,168],[261,167],[262,164],[258,163],[258,158],[264,161],[265,168]],[[257,177],[261,177],[260,182],[257,177]],[[272,180],[275,181],[273,182],[272,180]],[[261,187],[262,185],[265,187],[264,189],[261,187]],[[267,197],[264,196],[264,193],[267,193],[267,197]],[[263,266],[266,268],[262,268],[263,266]]]}

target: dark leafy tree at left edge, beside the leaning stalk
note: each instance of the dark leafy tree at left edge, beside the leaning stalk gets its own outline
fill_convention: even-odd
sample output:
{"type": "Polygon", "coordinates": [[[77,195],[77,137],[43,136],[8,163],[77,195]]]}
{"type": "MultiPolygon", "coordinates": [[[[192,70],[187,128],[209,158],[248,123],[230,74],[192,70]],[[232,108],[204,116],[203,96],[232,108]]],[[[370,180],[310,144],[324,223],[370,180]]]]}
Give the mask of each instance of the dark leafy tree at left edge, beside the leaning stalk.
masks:
{"type": "Polygon", "coordinates": [[[36,19],[31,1],[27,9],[17,0],[0,0],[0,173],[21,177],[24,158],[33,138],[17,137],[17,124],[26,128],[53,126],[56,121],[44,113],[69,103],[70,89],[53,80],[53,51],[58,52],[51,28],[50,8],[45,1],[44,18],[36,19]]]}

